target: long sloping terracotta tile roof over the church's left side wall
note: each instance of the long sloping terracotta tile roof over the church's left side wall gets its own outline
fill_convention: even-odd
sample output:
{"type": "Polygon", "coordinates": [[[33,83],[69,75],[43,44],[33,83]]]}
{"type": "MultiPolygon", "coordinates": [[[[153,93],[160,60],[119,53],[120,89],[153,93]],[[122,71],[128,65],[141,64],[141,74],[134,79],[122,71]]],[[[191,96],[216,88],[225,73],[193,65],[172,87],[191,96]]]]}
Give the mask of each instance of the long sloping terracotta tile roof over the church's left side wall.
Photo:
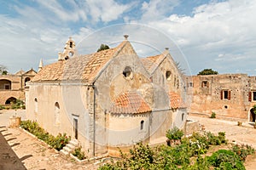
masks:
{"type": "Polygon", "coordinates": [[[32,79],[32,82],[53,80],[92,82],[104,65],[125,46],[126,42],[121,42],[116,48],[109,48],[94,54],[75,56],[65,61],[46,65],[32,79]]]}

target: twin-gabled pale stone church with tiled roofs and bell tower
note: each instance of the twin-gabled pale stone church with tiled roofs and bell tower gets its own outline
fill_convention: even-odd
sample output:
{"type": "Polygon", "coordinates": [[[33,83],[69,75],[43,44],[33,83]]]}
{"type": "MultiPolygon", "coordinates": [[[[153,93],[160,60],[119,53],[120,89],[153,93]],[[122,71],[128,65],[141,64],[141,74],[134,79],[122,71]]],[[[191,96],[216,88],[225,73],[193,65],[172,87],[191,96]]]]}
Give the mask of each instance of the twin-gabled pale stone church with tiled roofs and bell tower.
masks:
{"type": "Polygon", "coordinates": [[[168,49],[141,59],[125,36],[116,48],[80,55],[70,38],[58,61],[28,83],[26,117],[77,139],[89,157],[113,155],[182,128],[184,85],[168,49]]]}

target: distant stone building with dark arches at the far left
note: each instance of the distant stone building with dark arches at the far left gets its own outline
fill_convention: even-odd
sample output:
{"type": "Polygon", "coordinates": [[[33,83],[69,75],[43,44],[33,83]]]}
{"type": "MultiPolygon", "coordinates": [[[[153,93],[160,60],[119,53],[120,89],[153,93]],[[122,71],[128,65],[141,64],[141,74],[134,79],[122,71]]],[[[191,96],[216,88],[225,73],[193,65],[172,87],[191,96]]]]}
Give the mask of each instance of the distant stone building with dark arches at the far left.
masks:
{"type": "Polygon", "coordinates": [[[16,99],[25,100],[26,82],[37,74],[34,70],[18,71],[15,74],[0,75],[0,105],[15,103],[16,99]]]}

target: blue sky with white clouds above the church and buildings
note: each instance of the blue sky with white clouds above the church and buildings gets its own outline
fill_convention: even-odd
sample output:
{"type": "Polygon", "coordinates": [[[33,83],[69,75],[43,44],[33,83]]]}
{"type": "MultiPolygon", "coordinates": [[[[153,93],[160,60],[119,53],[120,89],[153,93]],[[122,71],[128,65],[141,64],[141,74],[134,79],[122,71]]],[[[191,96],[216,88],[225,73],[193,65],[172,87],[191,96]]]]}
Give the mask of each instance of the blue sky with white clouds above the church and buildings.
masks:
{"type": "Polygon", "coordinates": [[[72,37],[79,54],[128,40],[162,53],[187,75],[211,68],[256,76],[256,0],[0,0],[0,65],[15,73],[57,61],[72,37]]]}

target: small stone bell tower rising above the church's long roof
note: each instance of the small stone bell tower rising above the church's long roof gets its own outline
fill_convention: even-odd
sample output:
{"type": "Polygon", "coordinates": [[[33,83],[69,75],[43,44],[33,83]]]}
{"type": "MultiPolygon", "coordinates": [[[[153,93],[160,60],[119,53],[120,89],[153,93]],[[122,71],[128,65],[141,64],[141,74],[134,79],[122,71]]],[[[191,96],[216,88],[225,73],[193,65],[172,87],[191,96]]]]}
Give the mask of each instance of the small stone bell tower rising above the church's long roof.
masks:
{"type": "Polygon", "coordinates": [[[65,44],[63,53],[59,52],[59,54],[58,54],[59,55],[58,60],[70,59],[71,57],[73,57],[76,54],[76,52],[77,52],[76,44],[72,40],[72,37],[69,37],[69,39],[67,40],[67,42],[65,44]]]}

